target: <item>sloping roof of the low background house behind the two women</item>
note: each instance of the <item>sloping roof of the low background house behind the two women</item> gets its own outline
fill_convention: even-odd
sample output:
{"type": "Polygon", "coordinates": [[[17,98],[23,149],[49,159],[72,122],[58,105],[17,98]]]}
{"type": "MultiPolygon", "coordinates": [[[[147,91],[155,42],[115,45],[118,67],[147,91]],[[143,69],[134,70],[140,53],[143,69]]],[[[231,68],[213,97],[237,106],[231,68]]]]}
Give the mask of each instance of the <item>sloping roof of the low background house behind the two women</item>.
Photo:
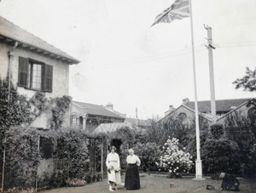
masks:
{"type": "Polygon", "coordinates": [[[72,103],[74,105],[78,105],[82,109],[82,111],[84,111],[84,113],[86,114],[95,115],[95,116],[110,116],[110,117],[125,119],[125,117],[119,116],[113,111],[109,111],[106,107],[102,105],[82,103],[78,101],[72,101],[72,103]]]}

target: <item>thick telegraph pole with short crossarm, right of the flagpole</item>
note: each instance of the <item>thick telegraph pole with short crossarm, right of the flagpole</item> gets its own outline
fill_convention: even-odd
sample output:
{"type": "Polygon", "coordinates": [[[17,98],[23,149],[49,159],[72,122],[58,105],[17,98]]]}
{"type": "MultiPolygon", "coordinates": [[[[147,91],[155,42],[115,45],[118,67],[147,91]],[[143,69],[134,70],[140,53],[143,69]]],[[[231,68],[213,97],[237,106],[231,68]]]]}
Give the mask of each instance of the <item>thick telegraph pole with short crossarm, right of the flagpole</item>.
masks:
{"type": "Polygon", "coordinates": [[[207,30],[207,40],[208,40],[208,44],[206,45],[206,47],[208,49],[208,56],[209,56],[212,123],[215,124],[217,118],[216,118],[216,102],[215,102],[213,58],[212,58],[212,49],[215,49],[215,47],[212,45],[212,27],[206,26],[206,25],[204,26],[207,30]]]}

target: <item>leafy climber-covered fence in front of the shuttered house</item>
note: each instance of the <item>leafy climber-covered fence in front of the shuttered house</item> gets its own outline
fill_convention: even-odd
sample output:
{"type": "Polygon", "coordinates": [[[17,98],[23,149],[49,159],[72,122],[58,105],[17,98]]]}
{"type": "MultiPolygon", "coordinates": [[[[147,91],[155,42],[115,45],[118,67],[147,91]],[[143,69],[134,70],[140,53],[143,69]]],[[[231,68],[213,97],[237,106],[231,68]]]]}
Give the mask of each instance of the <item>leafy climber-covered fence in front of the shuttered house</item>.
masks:
{"type": "MultiPolygon", "coordinates": [[[[53,154],[55,161],[66,158],[67,167],[61,168],[65,176],[54,175],[49,182],[59,182],[65,184],[65,180],[83,179],[84,173],[89,170],[89,155],[87,146],[84,144],[88,139],[87,133],[83,130],[38,130],[37,128],[12,127],[6,131],[6,175],[5,188],[19,187],[26,189],[34,187],[37,177],[38,165],[43,159],[39,150],[40,138],[50,139],[53,144],[53,154]],[[39,146],[38,146],[39,145],[39,146]],[[11,184],[7,184],[7,183],[11,184]]],[[[41,146],[40,146],[41,147],[41,146]]],[[[55,168],[55,173],[58,173],[55,168]]]]}

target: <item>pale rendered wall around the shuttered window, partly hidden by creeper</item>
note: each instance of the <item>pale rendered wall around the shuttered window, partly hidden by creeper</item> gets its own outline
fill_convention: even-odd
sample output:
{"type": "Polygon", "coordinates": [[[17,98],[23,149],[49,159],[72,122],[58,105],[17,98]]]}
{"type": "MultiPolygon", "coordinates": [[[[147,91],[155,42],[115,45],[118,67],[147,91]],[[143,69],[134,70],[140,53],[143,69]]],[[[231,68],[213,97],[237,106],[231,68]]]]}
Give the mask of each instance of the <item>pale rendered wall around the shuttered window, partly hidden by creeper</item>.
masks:
{"type": "MultiPolygon", "coordinates": [[[[9,56],[8,52],[11,50],[11,46],[6,45],[5,43],[0,43],[0,77],[4,78],[8,73],[8,65],[9,65],[9,56]]],[[[69,85],[69,65],[61,62],[60,60],[55,60],[54,58],[50,58],[49,56],[44,56],[44,54],[38,54],[35,52],[28,51],[24,48],[19,48],[19,46],[14,50],[14,57],[11,62],[11,80],[13,84],[16,86],[18,83],[18,71],[19,71],[19,56],[24,58],[29,58],[32,60],[38,60],[40,62],[44,62],[47,65],[53,66],[53,92],[45,93],[47,98],[55,98],[61,97],[63,95],[68,95],[68,85],[69,85]]],[[[36,91],[29,90],[26,88],[18,87],[18,93],[24,94],[28,99],[30,99],[36,91]]],[[[69,112],[65,116],[65,122],[63,123],[63,127],[69,127],[70,125],[70,116],[69,112]]],[[[35,122],[32,122],[32,127],[36,128],[48,128],[49,124],[45,122],[47,120],[47,116],[43,114],[38,117],[35,122]]]]}

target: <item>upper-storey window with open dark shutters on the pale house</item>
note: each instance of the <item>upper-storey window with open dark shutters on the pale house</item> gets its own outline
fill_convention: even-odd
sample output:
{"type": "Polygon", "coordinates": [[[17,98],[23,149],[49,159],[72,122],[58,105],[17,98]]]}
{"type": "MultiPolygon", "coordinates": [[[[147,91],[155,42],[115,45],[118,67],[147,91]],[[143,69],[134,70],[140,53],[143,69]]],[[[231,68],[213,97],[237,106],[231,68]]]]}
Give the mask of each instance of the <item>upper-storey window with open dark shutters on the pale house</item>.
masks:
{"type": "Polygon", "coordinates": [[[35,60],[19,58],[19,86],[52,92],[53,66],[35,60]]]}

